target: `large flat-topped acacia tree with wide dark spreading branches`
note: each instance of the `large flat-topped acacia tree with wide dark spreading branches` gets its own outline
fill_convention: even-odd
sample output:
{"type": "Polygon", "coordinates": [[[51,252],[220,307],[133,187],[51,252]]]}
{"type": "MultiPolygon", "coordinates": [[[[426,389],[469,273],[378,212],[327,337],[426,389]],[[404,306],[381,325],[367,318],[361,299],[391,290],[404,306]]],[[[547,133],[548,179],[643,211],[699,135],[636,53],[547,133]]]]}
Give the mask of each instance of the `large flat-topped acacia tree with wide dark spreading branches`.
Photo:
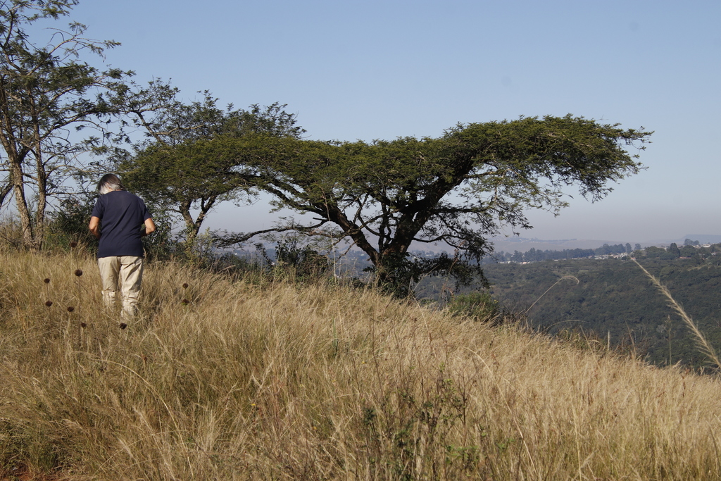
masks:
{"type": "Polygon", "coordinates": [[[503,226],[531,227],[526,209],[566,206],[566,187],[600,200],[610,182],[639,172],[638,151],[649,136],[567,115],[370,144],[256,136],[236,141],[234,155],[279,207],[311,219],[273,230],[347,239],[368,254],[381,281],[397,282],[411,267],[417,275],[477,265],[467,261],[491,252],[488,239],[503,226]],[[412,265],[413,242],[448,244],[457,254],[412,265]]]}

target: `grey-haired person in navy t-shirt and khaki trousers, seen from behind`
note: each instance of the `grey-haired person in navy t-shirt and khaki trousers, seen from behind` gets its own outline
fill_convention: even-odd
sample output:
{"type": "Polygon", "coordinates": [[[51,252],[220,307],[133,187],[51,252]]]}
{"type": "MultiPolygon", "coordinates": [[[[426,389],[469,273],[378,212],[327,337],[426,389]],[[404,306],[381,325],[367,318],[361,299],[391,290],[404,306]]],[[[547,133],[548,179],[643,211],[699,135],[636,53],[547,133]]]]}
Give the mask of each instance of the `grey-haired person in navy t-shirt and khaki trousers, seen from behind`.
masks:
{"type": "Polygon", "coordinates": [[[128,320],[138,311],[143,279],[141,237],[152,234],[155,224],[143,200],[125,190],[117,176],[102,176],[97,190],[100,197],[88,228],[99,239],[97,265],[102,278],[102,299],[105,306],[113,306],[119,290],[123,299],[121,317],[128,320]],[[143,224],[145,230],[141,230],[143,224]]]}

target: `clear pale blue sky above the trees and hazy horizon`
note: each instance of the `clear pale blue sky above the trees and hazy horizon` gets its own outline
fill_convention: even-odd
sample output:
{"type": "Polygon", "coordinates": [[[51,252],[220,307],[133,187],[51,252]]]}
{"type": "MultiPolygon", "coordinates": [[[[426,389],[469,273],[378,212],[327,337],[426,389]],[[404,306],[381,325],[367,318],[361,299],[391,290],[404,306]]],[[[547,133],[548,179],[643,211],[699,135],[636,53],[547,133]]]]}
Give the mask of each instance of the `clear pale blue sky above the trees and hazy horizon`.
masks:
{"type": "MultiPolygon", "coordinates": [[[[523,237],[646,242],[721,234],[721,2],[84,0],[112,66],[288,104],[310,138],[439,136],[458,122],[583,115],[655,131],[648,167],[600,203],[529,213],[523,237]]],[[[213,229],[269,226],[220,208],[213,229]]]]}

